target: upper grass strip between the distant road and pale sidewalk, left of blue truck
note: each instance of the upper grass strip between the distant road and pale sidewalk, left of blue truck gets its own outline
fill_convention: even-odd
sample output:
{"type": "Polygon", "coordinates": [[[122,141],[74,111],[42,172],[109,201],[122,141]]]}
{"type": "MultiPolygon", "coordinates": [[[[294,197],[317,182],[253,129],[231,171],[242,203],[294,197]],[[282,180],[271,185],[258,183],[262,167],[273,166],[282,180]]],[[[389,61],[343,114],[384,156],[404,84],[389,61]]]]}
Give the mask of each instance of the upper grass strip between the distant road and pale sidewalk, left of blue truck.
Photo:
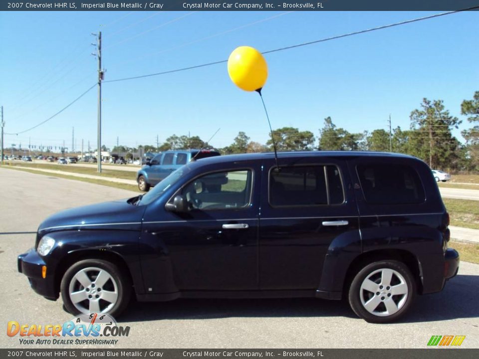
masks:
{"type": "MultiPolygon", "coordinates": [[[[21,163],[21,162],[10,162],[7,164],[8,167],[16,168],[25,168],[25,169],[40,169],[40,170],[53,170],[53,171],[63,171],[71,172],[81,175],[91,175],[98,177],[112,177],[116,179],[136,179],[136,174],[131,171],[121,171],[121,170],[106,170],[102,169],[101,174],[97,172],[96,167],[80,167],[75,165],[56,165],[56,164],[35,164],[35,163],[21,163]]],[[[39,172],[39,171],[37,171],[39,172]]]]}

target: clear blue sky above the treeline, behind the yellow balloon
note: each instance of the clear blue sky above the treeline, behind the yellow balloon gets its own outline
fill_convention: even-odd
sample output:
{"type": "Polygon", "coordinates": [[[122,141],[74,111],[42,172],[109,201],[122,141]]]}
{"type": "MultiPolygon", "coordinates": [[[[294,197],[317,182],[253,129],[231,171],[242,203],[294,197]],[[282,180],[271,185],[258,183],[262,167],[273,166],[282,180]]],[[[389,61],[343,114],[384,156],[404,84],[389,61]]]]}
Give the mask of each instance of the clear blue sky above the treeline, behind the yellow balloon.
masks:
{"type": "MultiPolygon", "coordinates": [[[[122,12],[0,13],[0,105],[7,133],[50,117],[96,82],[90,34],[103,34],[105,80],[227,59],[240,45],[260,51],[317,40],[434,12],[122,12]]],[[[273,128],[318,135],[331,116],[350,132],[409,128],[422,98],[443,99],[452,115],[479,90],[479,13],[457,13],[265,55],[263,89],[273,128]]],[[[227,65],[104,83],[103,144],[112,148],[199,135],[224,147],[239,131],[265,143],[260,99],[229,79],[227,65]]],[[[96,147],[96,88],[44,125],[6,135],[5,145],[96,147]]],[[[455,135],[461,141],[460,130],[455,135]]]]}

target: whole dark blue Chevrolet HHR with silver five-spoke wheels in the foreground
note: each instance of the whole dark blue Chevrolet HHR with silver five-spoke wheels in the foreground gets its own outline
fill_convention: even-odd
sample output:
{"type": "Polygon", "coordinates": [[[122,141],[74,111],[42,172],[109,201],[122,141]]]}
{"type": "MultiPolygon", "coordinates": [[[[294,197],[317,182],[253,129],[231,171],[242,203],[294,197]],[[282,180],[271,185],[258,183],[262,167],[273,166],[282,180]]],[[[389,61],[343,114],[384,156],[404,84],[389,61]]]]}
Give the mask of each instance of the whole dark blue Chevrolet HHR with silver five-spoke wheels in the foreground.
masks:
{"type": "Polygon", "coordinates": [[[18,271],[75,314],[115,316],[132,294],[313,297],[386,323],[457,274],[448,226],[431,170],[414,157],[230,155],[188,162],[144,195],[54,214],[18,271]]]}

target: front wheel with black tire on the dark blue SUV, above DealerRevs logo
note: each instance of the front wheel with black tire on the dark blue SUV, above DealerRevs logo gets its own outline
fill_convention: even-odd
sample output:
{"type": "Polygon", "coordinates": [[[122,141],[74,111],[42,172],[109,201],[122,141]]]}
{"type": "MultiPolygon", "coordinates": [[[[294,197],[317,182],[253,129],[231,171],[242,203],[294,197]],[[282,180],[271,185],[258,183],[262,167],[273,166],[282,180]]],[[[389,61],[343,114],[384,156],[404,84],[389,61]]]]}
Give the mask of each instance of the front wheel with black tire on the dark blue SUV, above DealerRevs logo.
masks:
{"type": "Polygon", "coordinates": [[[90,313],[90,309],[93,308],[91,303],[96,302],[98,303],[98,312],[107,313],[113,317],[118,316],[125,310],[130,301],[131,289],[132,284],[127,273],[121,271],[115,264],[100,259],[86,259],[73,264],[63,275],[60,284],[61,298],[65,308],[74,315],[90,313]],[[97,270],[101,270],[104,275],[110,276],[101,286],[95,286],[97,279],[100,277],[97,270]],[[90,286],[80,284],[77,279],[78,276],[76,276],[80,272],[87,274],[91,281],[90,286]],[[72,291],[70,292],[70,290],[72,291]],[[85,296],[85,299],[74,304],[70,293],[81,293],[82,296],[85,296]],[[108,298],[106,297],[107,293],[109,295],[116,294],[114,303],[103,299],[108,298]],[[88,297],[92,299],[88,299],[88,297]],[[98,299],[95,299],[95,297],[98,299]]]}

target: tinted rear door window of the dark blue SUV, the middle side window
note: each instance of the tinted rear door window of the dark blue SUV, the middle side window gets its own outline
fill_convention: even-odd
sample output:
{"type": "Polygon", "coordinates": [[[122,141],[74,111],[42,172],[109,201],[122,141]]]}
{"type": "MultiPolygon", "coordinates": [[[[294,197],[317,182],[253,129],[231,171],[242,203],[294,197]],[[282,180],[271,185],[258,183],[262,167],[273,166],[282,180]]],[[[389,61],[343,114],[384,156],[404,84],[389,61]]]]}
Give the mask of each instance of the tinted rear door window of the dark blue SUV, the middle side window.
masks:
{"type": "Polygon", "coordinates": [[[270,172],[272,206],[314,206],[343,201],[343,186],[336,166],[281,167],[270,172]]]}

